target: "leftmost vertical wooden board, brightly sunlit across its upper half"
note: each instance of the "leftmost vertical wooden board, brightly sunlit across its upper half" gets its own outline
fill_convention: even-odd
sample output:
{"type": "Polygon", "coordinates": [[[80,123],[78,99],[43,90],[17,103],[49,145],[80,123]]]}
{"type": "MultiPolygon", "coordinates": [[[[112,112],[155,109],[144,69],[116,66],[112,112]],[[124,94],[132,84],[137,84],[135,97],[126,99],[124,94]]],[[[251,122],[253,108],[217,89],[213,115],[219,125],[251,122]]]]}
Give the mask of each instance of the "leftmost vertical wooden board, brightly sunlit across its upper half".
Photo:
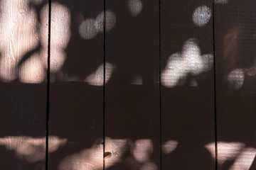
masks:
{"type": "Polygon", "coordinates": [[[41,8],[48,1],[0,1],[1,169],[45,169],[46,69],[41,8]]]}

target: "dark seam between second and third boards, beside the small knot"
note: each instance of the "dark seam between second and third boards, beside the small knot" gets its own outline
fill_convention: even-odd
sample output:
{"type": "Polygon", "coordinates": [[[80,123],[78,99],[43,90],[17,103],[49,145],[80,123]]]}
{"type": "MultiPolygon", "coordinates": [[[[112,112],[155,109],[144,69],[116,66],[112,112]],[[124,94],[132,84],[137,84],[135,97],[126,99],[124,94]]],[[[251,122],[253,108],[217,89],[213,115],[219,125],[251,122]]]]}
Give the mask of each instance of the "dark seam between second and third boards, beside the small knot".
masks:
{"type": "Polygon", "coordinates": [[[104,28],[104,34],[103,34],[103,169],[105,170],[105,159],[104,159],[104,153],[105,153],[105,77],[106,77],[106,1],[103,2],[103,11],[104,11],[104,21],[103,21],[103,28],[104,28]]]}

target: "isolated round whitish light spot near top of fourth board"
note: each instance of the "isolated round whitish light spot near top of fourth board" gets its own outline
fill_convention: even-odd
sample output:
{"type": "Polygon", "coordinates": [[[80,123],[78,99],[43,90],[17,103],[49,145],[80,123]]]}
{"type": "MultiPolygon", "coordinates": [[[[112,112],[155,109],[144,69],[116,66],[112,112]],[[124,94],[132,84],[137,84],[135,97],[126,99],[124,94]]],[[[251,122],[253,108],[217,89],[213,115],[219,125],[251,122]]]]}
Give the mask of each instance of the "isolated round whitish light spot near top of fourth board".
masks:
{"type": "Polygon", "coordinates": [[[193,23],[196,26],[206,26],[206,24],[210,21],[211,11],[207,6],[199,6],[193,12],[193,23]]]}

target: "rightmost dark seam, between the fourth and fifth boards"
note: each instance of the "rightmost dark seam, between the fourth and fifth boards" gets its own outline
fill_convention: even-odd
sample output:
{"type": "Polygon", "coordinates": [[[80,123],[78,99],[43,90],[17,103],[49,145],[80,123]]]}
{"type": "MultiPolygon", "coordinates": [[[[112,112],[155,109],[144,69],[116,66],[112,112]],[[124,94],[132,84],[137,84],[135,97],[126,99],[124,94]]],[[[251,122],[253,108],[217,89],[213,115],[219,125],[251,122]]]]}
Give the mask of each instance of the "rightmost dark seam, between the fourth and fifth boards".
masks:
{"type": "Polygon", "coordinates": [[[215,129],[215,170],[218,170],[218,140],[217,140],[217,103],[216,103],[216,66],[215,66],[215,30],[214,30],[214,0],[213,4],[213,69],[214,69],[214,129],[215,129]]]}

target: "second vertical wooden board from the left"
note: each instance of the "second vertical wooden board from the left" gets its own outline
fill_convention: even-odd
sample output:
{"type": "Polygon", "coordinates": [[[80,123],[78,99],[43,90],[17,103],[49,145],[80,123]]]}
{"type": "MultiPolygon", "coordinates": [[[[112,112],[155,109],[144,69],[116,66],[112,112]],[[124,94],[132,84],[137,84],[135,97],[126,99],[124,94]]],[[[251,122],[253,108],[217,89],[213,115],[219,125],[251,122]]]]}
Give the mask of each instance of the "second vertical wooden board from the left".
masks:
{"type": "Polygon", "coordinates": [[[48,169],[103,168],[103,19],[103,1],[52,1],[48,169]]]}

